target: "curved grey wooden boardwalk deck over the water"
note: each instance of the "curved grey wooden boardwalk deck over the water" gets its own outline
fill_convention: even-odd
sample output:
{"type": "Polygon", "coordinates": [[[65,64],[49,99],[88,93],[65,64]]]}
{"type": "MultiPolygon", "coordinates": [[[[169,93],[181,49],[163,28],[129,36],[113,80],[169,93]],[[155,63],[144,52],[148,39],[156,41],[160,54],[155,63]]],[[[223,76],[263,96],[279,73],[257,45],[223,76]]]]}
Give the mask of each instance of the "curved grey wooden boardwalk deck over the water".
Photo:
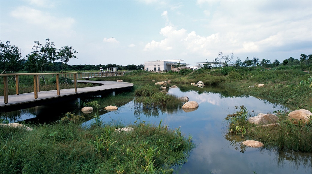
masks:
{"type": "Polygon", "coordinates": [[[93,80],[77,80],[79,83],[97,83],[102,84],[100,86],[78,88],[75,89],[60,89],[60,95],[57,95],[56,90],[40,91],[38,92],[38,98],[34,98],[34,93],[14,94],[8,96],[8,103],[4,103],[4,97],[0,96],[0,112],[7,110],[15,110],[33,106],[39,106],[47,104],[49,102],[62,101],[64,99],[79,98],[83,95],[96,95],[96,93],[103,91],[117,91],[126,90],[133,87],[132,83],[128,82],[115,82],[115,81],[93,81],[93,80]]]}

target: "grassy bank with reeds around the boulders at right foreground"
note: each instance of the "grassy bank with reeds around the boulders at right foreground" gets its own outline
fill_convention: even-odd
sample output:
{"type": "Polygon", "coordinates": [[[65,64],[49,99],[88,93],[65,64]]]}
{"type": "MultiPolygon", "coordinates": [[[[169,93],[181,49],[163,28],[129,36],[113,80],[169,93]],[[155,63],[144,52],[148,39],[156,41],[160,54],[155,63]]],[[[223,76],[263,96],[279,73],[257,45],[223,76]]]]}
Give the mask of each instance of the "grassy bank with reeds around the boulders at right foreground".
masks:
{"type": "MultiPolygon", "coordinates": [[[[262,127],[251,124],[247,119],[253,113],[241,106],[240,109],[226,117],[227,134],[241,136],[244,140],[256,140],[263,143],[267,148],[277,147],[279,150],[294,150],[312,152],[312,119],[307,123],[294,124],[287,119],[289,112],[278,111],[278,125],[262,127]]],[[[230,136],[229,136],[230,135],[230,136]]],[[[242,147],[244,150],[244,147],[242,147]]]]}

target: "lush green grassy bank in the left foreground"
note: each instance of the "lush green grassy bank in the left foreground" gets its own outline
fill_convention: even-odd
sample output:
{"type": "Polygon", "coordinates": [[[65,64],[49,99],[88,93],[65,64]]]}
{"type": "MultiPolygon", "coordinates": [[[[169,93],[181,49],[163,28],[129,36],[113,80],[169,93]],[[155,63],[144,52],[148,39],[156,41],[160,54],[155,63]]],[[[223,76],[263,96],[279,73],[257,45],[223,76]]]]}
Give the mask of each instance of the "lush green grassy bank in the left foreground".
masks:
{"type": "Polygon", "coordinates": [[[0,126],[0,173],[172,173],[193,148],[179,129],[138,121],[132,132],[117,133],[118,123],[67,114],[50,125],[0,126]],[[80,120],[80,121],[79,121],[80,120]]]}

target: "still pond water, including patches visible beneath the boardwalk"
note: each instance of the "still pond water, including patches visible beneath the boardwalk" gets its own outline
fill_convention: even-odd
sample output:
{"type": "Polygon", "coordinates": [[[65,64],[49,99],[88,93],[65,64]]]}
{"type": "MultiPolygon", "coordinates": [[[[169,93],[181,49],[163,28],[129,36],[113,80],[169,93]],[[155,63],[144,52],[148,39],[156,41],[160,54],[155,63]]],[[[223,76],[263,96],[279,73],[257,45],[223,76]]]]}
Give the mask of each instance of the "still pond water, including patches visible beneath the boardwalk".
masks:
{"type": "MultiPolygon", "coordinates": [[[[277,149],[251,148],[241,146],[239,137],[227,135],[224,118],[236,111],[235,106],[244,105],[248,111],[273,113],[284,110],[284,106],[265,99],[238,94],[228,89],[204,86],[171,88],[169,94],[178,97],[188,96],[190,101],[199,104],[197,110],[184,112],[154,111],[145,113],[138,111],[133,101],[119,106],[117,111],[100,112],[105,122],[117,121],[125,125],[134,121],[146,121],[159,124],[160,120],[169,128],[178,128],[185,136],[191,134],[196,147],[190,153],[188,162],[176,168],[179,173],[311,173],[312,154],[301,152],[285,152],[277,149]]],[[[15,111],[20,119],[36,119],[33,109],[15,111]]],[[[49,115],[51,109],[49,109],[49,115]]],[[[73,112],[63,111],[62,113],[73,112]]],[[[78,111],[76,111],[78,112],[78,111]]],[[[17,121],[17,120],[12,120],[17,121]]],[[[90,125],[92,120],[84,123],[90,125]]]]}

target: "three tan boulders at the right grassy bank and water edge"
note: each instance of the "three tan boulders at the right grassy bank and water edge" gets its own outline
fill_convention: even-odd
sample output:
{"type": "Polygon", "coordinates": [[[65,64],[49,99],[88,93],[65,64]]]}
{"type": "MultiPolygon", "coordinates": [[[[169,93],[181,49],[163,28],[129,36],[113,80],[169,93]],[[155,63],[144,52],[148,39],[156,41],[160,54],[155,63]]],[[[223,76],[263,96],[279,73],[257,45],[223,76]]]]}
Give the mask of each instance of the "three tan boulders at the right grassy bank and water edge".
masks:
{"type": "MultiPolygon", "coordinates": [[[[299,109],[292,111],[288,114],[287,119],[290,120],[294,124],[301,123],[308,123],[312,117],[312,113],[306,109],[299,109]]],[[[272,127],[272,126],[279,126],[277,123],[279,118],[275,114],[263,114],[259,113],[255,117],[248,118],[248,122],[252,124],[256,124],[258,126],[263,127],[272,127]]],[[[242,142],[246,146],[249,147],[262,147],[264,146],[263,143],[253,140],[247,140],[242,142]]]]}

